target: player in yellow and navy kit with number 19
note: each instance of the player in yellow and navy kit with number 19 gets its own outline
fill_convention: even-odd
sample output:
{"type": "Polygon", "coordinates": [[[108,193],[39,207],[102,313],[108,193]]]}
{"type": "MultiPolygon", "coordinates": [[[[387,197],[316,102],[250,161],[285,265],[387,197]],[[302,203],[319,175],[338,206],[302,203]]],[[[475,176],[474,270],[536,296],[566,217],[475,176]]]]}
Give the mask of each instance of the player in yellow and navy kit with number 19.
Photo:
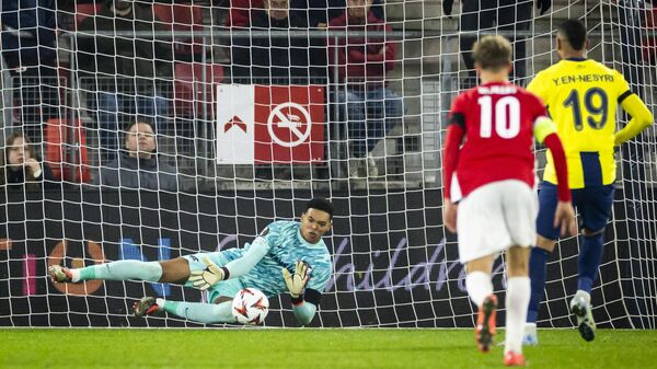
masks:
{"type": "MultiPolygon", "coordinates": [[[[586,27],[567,20],[557,31],[556,49],[561,61],[539,72],[527,90],[543,100],[557,125],[568,163],[568,184],[573,205],[581,216],[577,293],[570,312],[577,318],[581,337],[592,341],[596,323],[591,314],[590,291],[602,258],[603,233],[613,201],[615,181],[614,147],[635,137],[653,123],[653,115],[630,90],[621,73],[586,59],[586,27]],[[616,131],[616,105],[632,120],[616,131]]],[[[553,226],[556,206],[556,175],[548,152],[543,185],[539,192],[537,247],[530,260],[532,296],[526,326],[526,344],[537,344],[535,322],[545,287],[545,263],[558,239],[553,226]]]]}

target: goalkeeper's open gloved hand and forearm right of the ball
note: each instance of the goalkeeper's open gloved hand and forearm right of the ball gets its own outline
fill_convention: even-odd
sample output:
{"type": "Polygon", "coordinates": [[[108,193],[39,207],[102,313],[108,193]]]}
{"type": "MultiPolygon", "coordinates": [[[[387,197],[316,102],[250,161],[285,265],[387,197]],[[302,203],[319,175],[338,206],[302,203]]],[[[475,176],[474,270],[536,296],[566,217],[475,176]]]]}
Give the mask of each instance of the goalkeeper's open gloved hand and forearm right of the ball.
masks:
{"type": "Polygon", "coordinates": [[[281,268],[280,272],[292,300],[295,318],[299,324],[308,325],[314,318],[322,296],[314,289],[306,288],[310,279],[310,266],[303,261],[297,261],[293,274],[287,268],[281,268]]]}

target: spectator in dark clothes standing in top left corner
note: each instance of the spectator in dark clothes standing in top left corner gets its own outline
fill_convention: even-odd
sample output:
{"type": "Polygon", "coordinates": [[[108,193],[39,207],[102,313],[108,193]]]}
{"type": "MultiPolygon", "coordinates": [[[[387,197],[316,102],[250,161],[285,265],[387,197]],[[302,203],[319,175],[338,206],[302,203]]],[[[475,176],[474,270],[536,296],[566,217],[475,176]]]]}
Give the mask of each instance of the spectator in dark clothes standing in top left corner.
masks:
{"type": "Polygon", "coordinates": [[[2,0],[0,11],[2,57],[14,80],[19,123],[35,142],[60,106],[55,7],[55,0],[2,0]]]}

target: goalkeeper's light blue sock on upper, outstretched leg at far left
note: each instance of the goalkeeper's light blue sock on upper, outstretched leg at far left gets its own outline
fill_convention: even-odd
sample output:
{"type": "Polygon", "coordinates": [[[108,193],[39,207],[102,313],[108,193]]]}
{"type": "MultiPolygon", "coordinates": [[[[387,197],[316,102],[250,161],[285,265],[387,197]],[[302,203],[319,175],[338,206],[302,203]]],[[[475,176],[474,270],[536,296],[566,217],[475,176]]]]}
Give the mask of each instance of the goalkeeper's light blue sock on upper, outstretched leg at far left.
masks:
{"type": "MultiPolygon", "coordinates": [[[[80,269],[71,269],[71,272],[73,270],[80,273],[79,280],[139,279],[146,281],[159,281],[162,277],[162,266],[158,262],[118,261],[92,265],[80,269]]],[[[73,277],[76,277],[74,274],[73,277]]]]}

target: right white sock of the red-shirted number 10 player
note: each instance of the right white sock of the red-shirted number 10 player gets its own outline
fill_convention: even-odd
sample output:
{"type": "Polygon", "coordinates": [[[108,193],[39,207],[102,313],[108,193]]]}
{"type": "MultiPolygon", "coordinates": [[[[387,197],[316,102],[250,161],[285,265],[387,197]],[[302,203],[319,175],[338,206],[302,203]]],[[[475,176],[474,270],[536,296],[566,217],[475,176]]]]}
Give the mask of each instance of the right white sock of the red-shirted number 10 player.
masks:
{"type": "Polygon", "coordinates": [[[530,288],[529,277],[510,277],[507,281],[505,353],[522,354],[522,334],[530,288]]]}

